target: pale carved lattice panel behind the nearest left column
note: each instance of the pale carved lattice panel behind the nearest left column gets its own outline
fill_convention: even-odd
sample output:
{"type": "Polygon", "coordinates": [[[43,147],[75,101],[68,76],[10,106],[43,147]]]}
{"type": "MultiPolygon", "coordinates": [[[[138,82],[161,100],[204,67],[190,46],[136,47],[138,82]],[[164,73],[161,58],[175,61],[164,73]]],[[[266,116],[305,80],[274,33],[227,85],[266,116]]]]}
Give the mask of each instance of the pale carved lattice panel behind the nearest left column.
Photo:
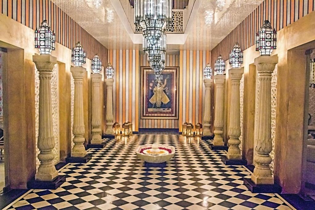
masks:
{"type": "MultiPolygon", "coordinates": [[[[38,140],[38,121],[39,121],[39,74],[35,66],[35,136],[36,136],[36,170],[39,167],[40,161],[38,159],[39,149],[37,147],[38,140]]],[[[59,85],[58,85],[58,65],[54,66],[51,74],[51,101],[52,101],[52,113],[53,113],[53,132],[55,140],[55,148],[53,150],[55,154],[54,163],[60,161],[60,141],[59,141],[59,85]]]]}

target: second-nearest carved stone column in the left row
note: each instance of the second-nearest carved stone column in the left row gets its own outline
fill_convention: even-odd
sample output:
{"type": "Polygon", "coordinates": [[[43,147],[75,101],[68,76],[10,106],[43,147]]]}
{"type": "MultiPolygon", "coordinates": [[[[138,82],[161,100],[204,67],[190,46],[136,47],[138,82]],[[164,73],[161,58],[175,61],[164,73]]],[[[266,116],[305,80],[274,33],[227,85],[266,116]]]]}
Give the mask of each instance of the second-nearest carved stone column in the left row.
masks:
{"type": "Polygon", "coordinates": [[[71,157],[84,157],[86,150],[83,145],[84,139],[84,115],[83,115],[83,78],[86,69],[83,67],[71,67],[70,69],[74,79],[74,112],[73,112],[73,134],[74,146],[71,151],[71,157]]]}

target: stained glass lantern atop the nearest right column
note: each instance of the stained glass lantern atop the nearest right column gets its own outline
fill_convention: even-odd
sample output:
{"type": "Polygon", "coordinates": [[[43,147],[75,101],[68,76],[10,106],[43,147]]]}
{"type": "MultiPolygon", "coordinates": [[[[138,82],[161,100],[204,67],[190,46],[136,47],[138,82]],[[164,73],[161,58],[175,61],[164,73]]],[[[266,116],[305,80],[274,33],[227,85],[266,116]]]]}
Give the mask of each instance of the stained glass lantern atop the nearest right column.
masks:
{"type": "Polygon", "coordinates": [[[265,20],[256,34],[256,51],[259,51],[260,55],[270,56],[274,49],[277,49],[277,31],[272,30],[269,20],[265,20]]]}

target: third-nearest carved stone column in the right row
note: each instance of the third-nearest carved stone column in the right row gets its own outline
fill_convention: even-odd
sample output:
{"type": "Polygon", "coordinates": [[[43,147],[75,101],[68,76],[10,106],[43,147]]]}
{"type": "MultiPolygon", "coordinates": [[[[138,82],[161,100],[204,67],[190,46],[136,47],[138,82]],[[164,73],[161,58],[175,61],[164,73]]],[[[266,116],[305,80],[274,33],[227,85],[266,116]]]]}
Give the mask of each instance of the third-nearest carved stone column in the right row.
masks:
{"type": "Polygon", "coordinates": [[[215,122],[214,122],[214,134],[213,146],[224,146],[223,141],[223,99],[224,99],[224,82],[225,75],[217,74],[215,79],[215,122]]]}

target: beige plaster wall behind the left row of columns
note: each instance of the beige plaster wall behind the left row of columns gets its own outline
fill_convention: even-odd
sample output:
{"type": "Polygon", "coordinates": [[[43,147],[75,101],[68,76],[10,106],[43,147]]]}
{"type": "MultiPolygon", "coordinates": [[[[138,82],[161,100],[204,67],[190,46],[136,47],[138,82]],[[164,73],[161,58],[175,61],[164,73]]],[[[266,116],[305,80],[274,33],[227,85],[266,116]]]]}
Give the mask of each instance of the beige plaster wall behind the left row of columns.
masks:
{"type": "MultiPolygon", "coordinates": [[[[34,48],[34,31],[32,29],[0,14],[0,31],[0,47],[8,48],[7,63],[8,71],[10,71],[4,75],[7,78],[4,91],[5,88],[8,91],[7,95],[4,95],[4,98],[8,97],[4,102],[4,110],[8,110],[7,115],[4,113],[4,118],[7,118],[4,119],[4,124],[7,122],[5,138],[9,142],[10,187],[26,188],[27,180],[36,173],[35,64],[32,62],[32,56],[39,53],[34,48]]],[[[56,50],[52,52],[52,56],[55,56],[58,62],[60,159],[64,160],[66,156],[70,155],[72,141],[71,49],[56,43],[56,50]]],[[[103,63],[107,63],[107,60],[103,63]]],[[[90,65],[91,60],[86,59],[86,64],[83,65],[87,69],[83,83],[85,90],[83,107],[84,137],[87,141],[91,137],[90,65]]],[[[103,113],[103,103],[100,108],[103,113]]],[[[103,116],[102,114],[101,122],[104,121],[103,116]]]]}

